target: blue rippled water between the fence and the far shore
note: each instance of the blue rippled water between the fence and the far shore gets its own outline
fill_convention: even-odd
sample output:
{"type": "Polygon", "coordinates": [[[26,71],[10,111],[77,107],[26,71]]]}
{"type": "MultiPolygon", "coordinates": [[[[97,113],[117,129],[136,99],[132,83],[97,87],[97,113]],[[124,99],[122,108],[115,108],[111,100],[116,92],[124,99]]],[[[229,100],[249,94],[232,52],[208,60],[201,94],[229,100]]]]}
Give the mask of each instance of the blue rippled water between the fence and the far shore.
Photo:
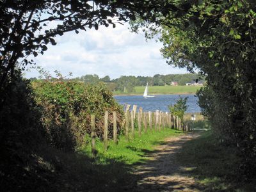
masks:
{"type": "MultiPolygon", "coordinates": [[[[195,95],[180,95],[180,97],[188,97],[187,113],[200,112],[200,107],[198,106],[198,98],[195,95]]],[[[131,104],[137,105],[138,108],[143,108],[143,111],[169,111],[168,106],[170,104],[175,104],[176,100],[179,99],[179,95],[156,95],[156,97],[145,99],[142,95],[116,95],[114,98],[122,105],[131,104]]]]}

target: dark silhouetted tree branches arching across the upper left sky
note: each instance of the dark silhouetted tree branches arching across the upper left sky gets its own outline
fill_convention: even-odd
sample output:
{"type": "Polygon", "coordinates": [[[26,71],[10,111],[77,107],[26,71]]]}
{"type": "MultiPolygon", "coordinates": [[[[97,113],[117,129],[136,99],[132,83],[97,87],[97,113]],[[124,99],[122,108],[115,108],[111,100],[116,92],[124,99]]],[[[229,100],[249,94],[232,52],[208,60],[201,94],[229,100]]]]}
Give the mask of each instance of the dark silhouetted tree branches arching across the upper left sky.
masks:
{"type": "Polygon", "coordinates": [[[160,0],[0,1],[0,91],[15,76],[15,66],[33,63],[27,57],[44,54],[49,44],[56,45],[56,36],[99,26],[115,28],[118,22],[134,20],[135,14],[153,19],[167,5],[160,0]]]}

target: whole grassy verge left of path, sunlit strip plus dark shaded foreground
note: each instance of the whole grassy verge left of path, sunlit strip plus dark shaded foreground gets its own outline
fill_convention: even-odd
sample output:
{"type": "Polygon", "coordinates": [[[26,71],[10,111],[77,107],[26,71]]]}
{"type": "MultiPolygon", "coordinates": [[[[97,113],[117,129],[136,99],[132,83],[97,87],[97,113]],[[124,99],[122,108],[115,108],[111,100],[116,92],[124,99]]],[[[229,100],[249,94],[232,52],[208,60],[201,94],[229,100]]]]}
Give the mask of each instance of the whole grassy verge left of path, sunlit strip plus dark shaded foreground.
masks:
{"type": "MultiPolygon", "coordinates": [[[[182,134],[180,131],[165,129],[138,133],[134,140],[126,141],[120,136],[118,145],[109,141],[108,152],[104,152],[103,143],[97,141],[97,157],[91,154],[90,140],[88,145],[78,152],[60,152],[45,148],[40,150],[43,158],[39,158],[42,166],[49,172],[47,186],[41,191],[134,191],[138,176],[132,173],[133,165],[147,161],[147,153],[154,150],[168,136],[182,134]]],[[[40,191],[35,189],[34,191],[40,191]]]]}

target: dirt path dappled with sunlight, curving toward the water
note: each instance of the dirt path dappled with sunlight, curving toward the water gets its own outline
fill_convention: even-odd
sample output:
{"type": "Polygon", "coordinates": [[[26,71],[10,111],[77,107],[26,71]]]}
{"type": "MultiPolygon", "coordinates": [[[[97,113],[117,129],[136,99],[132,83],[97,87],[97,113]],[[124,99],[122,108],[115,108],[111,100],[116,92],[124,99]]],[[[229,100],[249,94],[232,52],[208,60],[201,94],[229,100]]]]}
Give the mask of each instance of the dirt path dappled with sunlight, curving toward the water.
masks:
{"type": "Polygon", "coordinates": [[[136,167],[140,178],[136,191],[200,191],[195,179],[188,176],[188,168],[177,161],[176,154],[182,145],[199,134],[184,134],[167,138],[154,152],[148,154],[149,161],[136,167]]]}

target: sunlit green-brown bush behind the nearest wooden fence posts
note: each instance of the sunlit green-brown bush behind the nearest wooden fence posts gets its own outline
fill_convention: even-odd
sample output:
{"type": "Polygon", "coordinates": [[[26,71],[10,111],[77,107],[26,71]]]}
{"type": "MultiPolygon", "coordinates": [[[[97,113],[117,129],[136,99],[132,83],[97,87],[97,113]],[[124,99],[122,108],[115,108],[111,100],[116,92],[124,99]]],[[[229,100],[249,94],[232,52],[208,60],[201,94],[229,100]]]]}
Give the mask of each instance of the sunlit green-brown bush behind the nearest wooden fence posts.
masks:
{"type": "Polygon", "coordinates": [[[56,148],[72,150],[83,144],[86,134],[91,132],[92,114],[95,115],[96,132],[100,138],[105,111],[109,111],[109,136],[113,130],[113,111],[117,112],[118,131],[121,131],[123,109],[104,84],[35,81],[33,88],[36,103],[43,114],[46,137],[56,148]]]}

